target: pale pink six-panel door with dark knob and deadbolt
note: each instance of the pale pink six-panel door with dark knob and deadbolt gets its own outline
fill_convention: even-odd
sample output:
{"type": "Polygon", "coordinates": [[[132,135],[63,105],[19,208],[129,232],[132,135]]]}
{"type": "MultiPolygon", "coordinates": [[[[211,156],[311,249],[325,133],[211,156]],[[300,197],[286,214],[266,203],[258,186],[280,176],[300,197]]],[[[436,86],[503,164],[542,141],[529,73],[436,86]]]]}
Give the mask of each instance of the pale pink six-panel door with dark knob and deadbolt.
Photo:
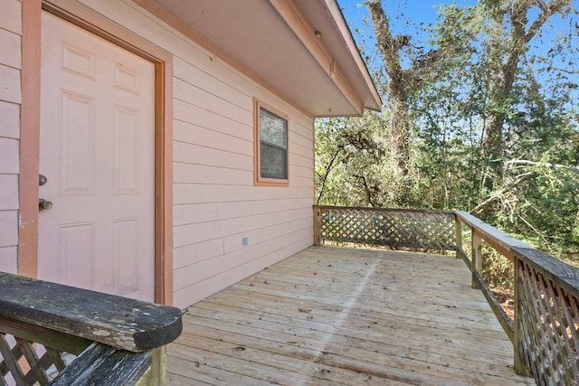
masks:
{"type": "Polygon", "coordinates": [[[155,299],[155,65],[43,13],[38,276],[155,299]]]}

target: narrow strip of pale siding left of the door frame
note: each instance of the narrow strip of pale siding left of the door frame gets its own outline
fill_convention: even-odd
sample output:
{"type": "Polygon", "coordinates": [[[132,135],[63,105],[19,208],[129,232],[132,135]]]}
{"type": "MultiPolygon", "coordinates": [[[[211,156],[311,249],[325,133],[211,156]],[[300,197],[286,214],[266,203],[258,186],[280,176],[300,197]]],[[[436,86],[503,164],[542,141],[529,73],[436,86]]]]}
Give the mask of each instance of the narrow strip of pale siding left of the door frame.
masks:
{"type": "Polygon", "coordinates": [[[22,3],[0,11],[0,271],[15,273],[18,250],[22,3]]]}

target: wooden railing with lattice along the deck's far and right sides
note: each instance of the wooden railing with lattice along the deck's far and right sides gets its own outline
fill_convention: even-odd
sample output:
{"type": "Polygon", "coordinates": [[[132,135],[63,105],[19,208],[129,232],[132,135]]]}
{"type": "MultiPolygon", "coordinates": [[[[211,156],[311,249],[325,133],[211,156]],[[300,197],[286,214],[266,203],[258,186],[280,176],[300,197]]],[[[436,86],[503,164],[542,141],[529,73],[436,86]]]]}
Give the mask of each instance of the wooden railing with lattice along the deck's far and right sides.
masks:
{"type": "Polygon", "coordinates": [[[314,206],[314,243],[380,245],[388,249],[454,250],[487,297],[513,343],[515,369],[537,384],[579,384],[579,270],[466,212],[314,206]],[[470,250],[463,234],[470,233],[470,250]],[[439,240],[440,239],[440,240],[439,240]],[[483,242],[514,268],[514,318],[498,302],[481,269],[483,242]]]}

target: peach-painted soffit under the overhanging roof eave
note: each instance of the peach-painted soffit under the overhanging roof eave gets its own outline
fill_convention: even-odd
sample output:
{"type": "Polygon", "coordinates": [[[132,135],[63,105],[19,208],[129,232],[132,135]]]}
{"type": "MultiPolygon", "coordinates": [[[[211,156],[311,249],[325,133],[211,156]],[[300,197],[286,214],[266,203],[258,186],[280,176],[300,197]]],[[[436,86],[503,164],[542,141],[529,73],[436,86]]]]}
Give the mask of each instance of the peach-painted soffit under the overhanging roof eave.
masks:
{"type": "MultiPolygon", "coordinates": [[[[343,20],[335,20],[326,0],[154,1],[225,52],[241,71],[314,117],[352,116],[362,108],[380,108],[374,85],[364,76],[367,71],[359,69],[345,42],[351,35],[348,31],[345,37],[338,29],[343,20]],[[288,24],[287,14],[296,13],[301,16],[295,19],[298,27],[303,24],[302,32],[310,32],[307,43],[304,33],[299,36],[288,24]],[[312,39],[315,31],[321,36],[312,39]],[[314,47],[318,56],[312,54],[312,44],[321,47],[314,47]],[[340,74],[344,76],[337,77],[340,74]]],[[[335,0],[329,3],[336,5],[335,0]]]]}

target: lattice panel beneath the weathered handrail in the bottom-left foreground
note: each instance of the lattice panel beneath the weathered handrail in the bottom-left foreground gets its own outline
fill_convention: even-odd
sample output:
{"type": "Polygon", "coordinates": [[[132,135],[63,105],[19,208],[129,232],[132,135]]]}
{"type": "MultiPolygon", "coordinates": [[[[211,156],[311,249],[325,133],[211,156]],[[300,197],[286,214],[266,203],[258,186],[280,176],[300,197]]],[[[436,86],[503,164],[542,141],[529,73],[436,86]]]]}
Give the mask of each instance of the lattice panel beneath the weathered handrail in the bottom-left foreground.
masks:
{"type": "Polygon", "coordinates": [[[17,385],[48,384],[53,376],[64,370],[66,363],[62,352],[49,347],[44,347],[43,351],[39,357],[33,342],[0,333],[0,385],[11,384],[11,381],[17,385]]]}

